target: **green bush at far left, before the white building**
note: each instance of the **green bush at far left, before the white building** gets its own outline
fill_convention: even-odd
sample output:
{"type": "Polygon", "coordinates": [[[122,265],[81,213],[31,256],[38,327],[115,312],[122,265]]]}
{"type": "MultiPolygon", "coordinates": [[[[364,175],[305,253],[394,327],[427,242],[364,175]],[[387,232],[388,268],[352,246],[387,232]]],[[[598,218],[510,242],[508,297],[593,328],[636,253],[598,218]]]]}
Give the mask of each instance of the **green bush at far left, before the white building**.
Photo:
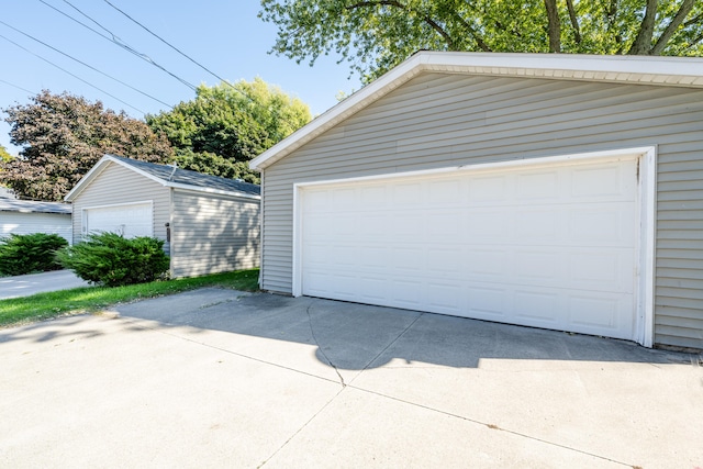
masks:
{"type": "Polygon", "coordinates": [[[0,273],[21,276],[60,269],[55,254],[64,246],[68,242],[57,234],[11,234],[0,239],[0,273]]]}

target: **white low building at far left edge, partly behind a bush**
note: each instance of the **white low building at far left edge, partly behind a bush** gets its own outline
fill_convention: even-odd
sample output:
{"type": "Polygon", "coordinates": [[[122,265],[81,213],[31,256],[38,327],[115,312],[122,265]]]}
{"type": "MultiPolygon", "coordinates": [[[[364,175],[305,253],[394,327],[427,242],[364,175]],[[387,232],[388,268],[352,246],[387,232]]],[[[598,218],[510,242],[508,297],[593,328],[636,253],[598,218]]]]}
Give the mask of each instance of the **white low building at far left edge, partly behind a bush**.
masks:
{"type": "Polygon", "coordinates": [[[69,203],[0,198],[0,238],[11,234],[57,234],[71,242],[69,203]]]}

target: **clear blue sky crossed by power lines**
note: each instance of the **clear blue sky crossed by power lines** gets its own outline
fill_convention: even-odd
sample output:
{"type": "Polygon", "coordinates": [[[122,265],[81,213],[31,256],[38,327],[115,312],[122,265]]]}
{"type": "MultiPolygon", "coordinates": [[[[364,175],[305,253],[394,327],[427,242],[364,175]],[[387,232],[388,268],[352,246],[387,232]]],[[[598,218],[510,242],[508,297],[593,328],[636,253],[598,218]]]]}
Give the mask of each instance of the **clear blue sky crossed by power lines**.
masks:
{"type": "MultiPolygon", "coordinates": [[[[68,1],[122,42],[146,54],[183,80],[193,85],[204,82],[209,86],[219,82],[217,78],[149,35],[104,0],[68,1]]],[[[66,1],[44,2],[108,34],[96,23],[81,16],[66,1]]],[[[287,57],[268,54],[276,41],[276,26],[257,18],[260,10],[257,0],[110,2],[220,77],[231,81],[250,81],[257,76],[261,77],[265,81],[302,99],[310,105],[313,114],[321,114],[336,104],[335,96],[338,91],[348,93],[360,88],[358,76],[349,79],[349,67],[344,63],[337,65],[337,57],[323,57],[314,67],[310,67],[306,63],[298,65],[287,57]]],[[[4,1],[0,21],[170,105],[194,97],[194,92],[177,79],[67,19],[40,0],[4,1]]],[[[90,70],[4,24],[0,24],[0,35],[102,90],[86,85],[0,37],[2,109],[16,103],[26,104],[30,102],[30,96],[42,89],[48,89],[54,93],[68,91],[90,101],[100,100],[107,108],[124,110],[129,115],[138,119],[144,115],[141,111],[157,113],[168,109],[163,103],[90,70]],[[31,93],[15,87],[24,88],[31,93]]],[[[0,115],[3,119],[0,122],[0,144],[10,153],[16,154],[18,149],[10,145],[10,126],[4,122],[5,114],[0,115]]]]}

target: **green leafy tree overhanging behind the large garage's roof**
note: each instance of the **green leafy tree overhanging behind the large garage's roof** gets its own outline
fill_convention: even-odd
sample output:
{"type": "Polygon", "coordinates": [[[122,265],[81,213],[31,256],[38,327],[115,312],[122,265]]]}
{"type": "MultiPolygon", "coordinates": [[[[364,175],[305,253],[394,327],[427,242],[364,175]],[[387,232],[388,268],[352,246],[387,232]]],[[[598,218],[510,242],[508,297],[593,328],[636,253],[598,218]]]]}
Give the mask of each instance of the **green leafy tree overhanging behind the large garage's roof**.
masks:
{"type": "Polygon", "coordinates": [[[334,51],[365,81],[420,49],[703,55],[701,0],[261,0],[272,52],[334,51]]]}

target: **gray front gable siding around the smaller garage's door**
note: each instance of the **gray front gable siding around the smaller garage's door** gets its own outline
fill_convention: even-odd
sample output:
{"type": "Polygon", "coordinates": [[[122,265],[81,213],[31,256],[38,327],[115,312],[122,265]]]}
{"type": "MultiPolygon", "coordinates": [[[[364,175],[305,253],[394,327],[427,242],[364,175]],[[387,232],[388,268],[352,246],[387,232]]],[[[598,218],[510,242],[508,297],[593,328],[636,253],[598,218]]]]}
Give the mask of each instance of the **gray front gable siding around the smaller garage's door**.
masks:
{"type": "Polygon", "coordinates": [[[166,241],[169,190],[137,172],[110,164],[74,200],[74,243],[81,241],[82,209],[153,201],[154,236],[166,241]]]}

